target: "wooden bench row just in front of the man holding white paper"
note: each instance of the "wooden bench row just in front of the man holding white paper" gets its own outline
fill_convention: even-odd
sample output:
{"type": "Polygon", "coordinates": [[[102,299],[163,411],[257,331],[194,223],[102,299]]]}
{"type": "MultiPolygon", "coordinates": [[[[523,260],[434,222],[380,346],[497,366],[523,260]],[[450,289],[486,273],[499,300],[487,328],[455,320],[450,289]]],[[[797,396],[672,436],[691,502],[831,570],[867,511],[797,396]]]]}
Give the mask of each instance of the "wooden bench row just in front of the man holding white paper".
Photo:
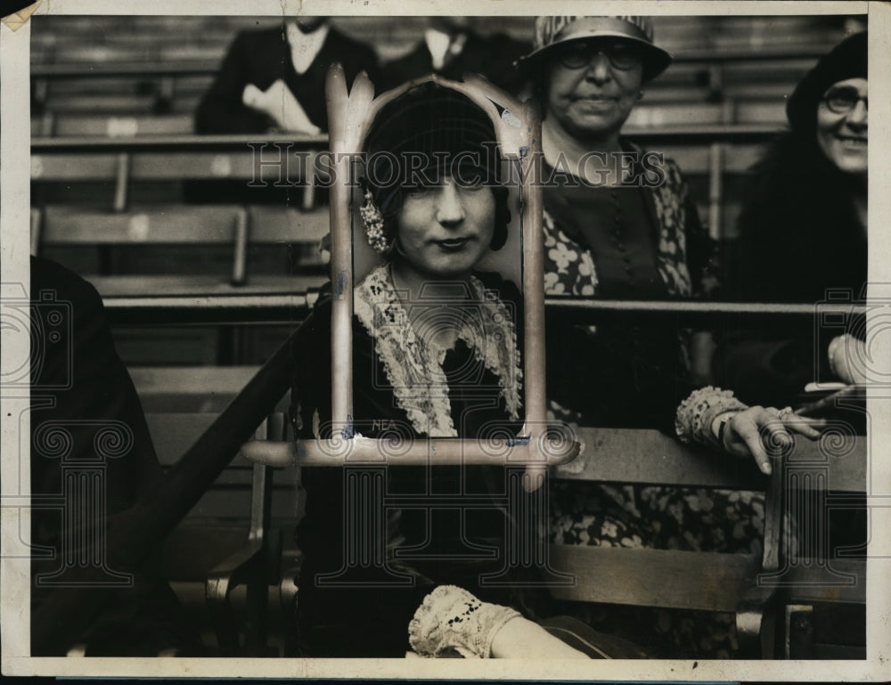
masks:
{"type": "MultiPolygon", "coordinates": [[[[744,109],[759,106],[749,103],[744,109]]],[[[748,173],[749,167],[763,154],[764,142],[776,135],[780,126],[724,126],[725,118],[735,116],[732,102],[704,107],[710,113],[702,122],[691,122],[683,113],[688,108],[682,107],[675,112],[678,120],[674,126],[655,128],[647,119],[650,115],[641,110],[637,126],[632,120],[625,133],[645,150],[661,151],[679,164],[684,175],[697,184],[694,197],[702,201],[702,218],[713,236],[720,238],[732,234],[739,213],[740,199],[732,192],[738,183],[731,183],[731,179],[748,173]],[[707,121],[711,124],[707,125],[707,121]]],[[[266,141],[266,148],[259,151],[257,146],[264,141],[249,136],[143,136],[140,121],[132,119],[134,126],[118,127],[121,132],[131,132],[128,138],[37,139],[32,146],[32,182],[38,188],[41,183],[107,183],[112,195],[111,208],[124,212],[135,183],[169,184],[188,180],[249,183],[255,179],[274,183],[280,171],[292,181],[308,181],[307,165],[313,151],[323,150],[328,144],[324,136],[296,141],[270,139],[266,141]],[[249,143],[259,152],[255,153],[249,143]],[[280,150],[286,165],[281,168],[269,164],[270,160],[278,159],[280,150]],[[298,159],[298,152],[307,157],[298,159]]],[[[52,122],[46,126],[52,126],[52,122]]],[[[315,183],[303,185],[302,208],[315,207],[315,193],[315,183]]]]}

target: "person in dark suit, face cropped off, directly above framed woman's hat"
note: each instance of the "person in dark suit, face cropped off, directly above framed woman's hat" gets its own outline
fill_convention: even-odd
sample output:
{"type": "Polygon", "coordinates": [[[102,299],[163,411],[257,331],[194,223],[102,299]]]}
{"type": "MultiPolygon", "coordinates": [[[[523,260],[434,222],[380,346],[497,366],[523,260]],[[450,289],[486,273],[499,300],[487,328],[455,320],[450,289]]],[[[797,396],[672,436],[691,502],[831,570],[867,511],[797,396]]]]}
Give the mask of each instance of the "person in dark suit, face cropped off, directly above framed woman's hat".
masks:
{"type": "Polygon", "coordinates": [[[383,89],[429,73],[453,80],[474,73],[515,94],[522,86],[522,77],[513,62],[528,51],[527,43],[503,33],[478,35],[470,28],[469,17],[430,17],[423,40],[411,52],[384,66],[383,89]]]}

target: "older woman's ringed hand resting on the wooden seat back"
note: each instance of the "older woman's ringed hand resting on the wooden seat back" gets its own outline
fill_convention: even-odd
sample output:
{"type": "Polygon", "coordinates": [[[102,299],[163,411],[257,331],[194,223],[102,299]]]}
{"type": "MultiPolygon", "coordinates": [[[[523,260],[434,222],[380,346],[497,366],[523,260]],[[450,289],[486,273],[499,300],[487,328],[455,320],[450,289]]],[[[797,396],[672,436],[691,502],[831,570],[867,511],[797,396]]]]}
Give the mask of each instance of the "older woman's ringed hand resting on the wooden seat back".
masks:
{"type": "Polygon", "coordinates": [[[719,416],[715,424],[718,443],[726,452],[739,457],[751,456],[763,473],[770,474],[771,456],[789,451],[794,444],[793,433],[815,440],[820,437],[817,428],[825,426],[826,421],[798,416],[791,407],[777,410],[755,406],[719,416]]]}

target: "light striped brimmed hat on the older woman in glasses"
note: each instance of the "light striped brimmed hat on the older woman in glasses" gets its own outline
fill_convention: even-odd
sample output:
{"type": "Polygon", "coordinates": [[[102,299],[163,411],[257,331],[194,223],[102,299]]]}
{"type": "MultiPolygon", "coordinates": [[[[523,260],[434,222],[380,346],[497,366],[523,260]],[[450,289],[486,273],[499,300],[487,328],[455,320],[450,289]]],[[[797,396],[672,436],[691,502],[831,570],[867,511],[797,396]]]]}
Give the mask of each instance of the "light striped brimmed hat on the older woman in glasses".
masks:
{"type": "Polygon", "coordinates": [[[653,25],[647,17],[538,17],[533,50],[520,58],[517,66],[526,68],[556,45],[594,38],[622,38],[638,45],[644,81],[658,77],[672,61],[671,53],[653,45],[653,25]]]}

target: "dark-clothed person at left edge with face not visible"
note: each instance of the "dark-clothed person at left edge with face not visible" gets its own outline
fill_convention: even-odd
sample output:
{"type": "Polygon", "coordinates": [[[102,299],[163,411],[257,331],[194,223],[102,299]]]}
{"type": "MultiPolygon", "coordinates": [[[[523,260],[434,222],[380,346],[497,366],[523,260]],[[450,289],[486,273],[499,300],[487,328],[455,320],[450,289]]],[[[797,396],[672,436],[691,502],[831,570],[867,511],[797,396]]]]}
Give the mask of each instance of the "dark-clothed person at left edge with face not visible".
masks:
{"type": "MultiPolygon", "coordinates": [[[[36,341],[31,357],[33,618],[48,599],[78,591],[76,585],[64,584],[66,573],[78,570],[71,559],[78,564],[87,558],[104,560],[98,548],[103,538],[95,526],[104,529],[107,520],[148,492],[163,471],[99,294],[53,261],[31,257],[30,266],[31,334],[36,341]],[[74,493],[70,478],[84,470],[93,475],[90,485],[78,480],[74,493]],[[99,490],[84,492],[94,486],[99,490]],[[86,525],[86,530],[66,527],[72,525],[86,525]],[[74,548],[78,541],[91,547],[74,548]],[[47,550],[52,554],[47,556],[47,550]]],[[[50,653],[37,648],[32,654],[65,656],[74,648],[86,656],[201,656],[189,617],[153,562],[124,585],[119,570],[106,569],[110,584],[101,592],[107,600],[86,632],[68,629],[64,645],[50,653]]],[[[32,639],[46,627],[32,621],[32,639]]],[[[42,644],[39,639],[37,644],[42,644]]]]}

